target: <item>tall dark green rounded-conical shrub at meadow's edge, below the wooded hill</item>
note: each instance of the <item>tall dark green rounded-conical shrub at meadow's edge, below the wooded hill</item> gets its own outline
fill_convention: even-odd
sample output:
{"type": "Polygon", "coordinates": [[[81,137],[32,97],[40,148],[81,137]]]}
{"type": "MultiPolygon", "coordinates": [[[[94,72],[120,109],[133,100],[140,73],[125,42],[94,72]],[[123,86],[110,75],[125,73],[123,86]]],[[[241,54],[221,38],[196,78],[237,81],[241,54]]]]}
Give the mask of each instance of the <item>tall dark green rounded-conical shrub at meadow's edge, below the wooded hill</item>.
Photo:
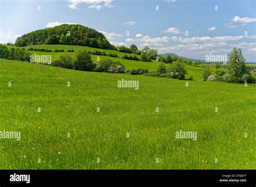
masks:
{"type": "Polygon", "coordinates": [[[96,64],[92,62],[91,56],[87,51],[82,51],[77,54],[77,60],[74,62],[74,69],[82,71],[93,71],[96,64]]]}

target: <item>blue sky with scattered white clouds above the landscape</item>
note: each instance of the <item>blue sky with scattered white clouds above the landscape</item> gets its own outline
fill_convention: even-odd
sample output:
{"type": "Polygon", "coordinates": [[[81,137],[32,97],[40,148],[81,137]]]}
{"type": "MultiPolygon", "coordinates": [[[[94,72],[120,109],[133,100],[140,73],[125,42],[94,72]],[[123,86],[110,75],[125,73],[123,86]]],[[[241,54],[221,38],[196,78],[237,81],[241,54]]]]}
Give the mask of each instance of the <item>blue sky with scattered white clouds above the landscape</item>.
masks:
{"type": "Polygon", "coordinates": [[[247,61],[256,62],[256,1],[0,0],[0,6],[1,43],[76,23],[103,32],[113,45],[149,46],[160,54],[202,60],[210,53],[226,55],[236,46],[247,61]]]}

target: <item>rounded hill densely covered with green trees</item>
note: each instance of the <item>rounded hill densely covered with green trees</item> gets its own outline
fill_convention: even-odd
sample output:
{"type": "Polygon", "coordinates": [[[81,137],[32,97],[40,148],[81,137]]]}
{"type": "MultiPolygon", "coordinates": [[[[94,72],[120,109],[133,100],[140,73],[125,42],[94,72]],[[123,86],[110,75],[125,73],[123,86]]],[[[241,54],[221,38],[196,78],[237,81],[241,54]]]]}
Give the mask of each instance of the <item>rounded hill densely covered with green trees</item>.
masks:
{"type": "Polygon", "coordinates": [[[15,45],[22,47],[41,44],[80,45],[102,49],[115,49],[104,34],[83,25],[63,24],[23,34],[15,45]]]}

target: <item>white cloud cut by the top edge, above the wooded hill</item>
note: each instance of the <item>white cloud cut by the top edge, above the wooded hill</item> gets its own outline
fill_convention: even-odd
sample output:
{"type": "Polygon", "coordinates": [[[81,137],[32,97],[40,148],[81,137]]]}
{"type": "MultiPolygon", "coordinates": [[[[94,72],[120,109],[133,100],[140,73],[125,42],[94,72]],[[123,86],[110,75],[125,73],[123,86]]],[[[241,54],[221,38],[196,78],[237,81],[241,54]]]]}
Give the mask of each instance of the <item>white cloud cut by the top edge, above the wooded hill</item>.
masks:
{"type": "Polygon", "coordinates": [[[102,7],[106,7],[106,8],[112,8],[113,5],[111,4],[113,2],[113,0],[69,0],[69,2],[71,3],[69,5],[69,8],[71,9],[78,9],[78,4],[80,3],[85,3],[88,4],[88,8],[102,8],[102,7]]]}

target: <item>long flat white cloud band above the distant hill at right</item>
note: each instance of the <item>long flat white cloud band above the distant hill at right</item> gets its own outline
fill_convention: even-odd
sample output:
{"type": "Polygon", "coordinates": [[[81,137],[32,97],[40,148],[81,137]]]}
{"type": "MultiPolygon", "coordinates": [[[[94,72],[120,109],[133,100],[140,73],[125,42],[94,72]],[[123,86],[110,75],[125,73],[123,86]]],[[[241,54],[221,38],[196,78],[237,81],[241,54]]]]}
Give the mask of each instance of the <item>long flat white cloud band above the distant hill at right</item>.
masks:
{"type": "Polygon", "coordinates": [[[191,42],[223,42],[231,40],[240,40],[244,38],[242,35],[238,36],[223,36],[223,37],[193,37],[193,38],[183,38],[183,37],[172,37],[173,41],[179,41],[181,43],[191,43],[191,42]]]}

